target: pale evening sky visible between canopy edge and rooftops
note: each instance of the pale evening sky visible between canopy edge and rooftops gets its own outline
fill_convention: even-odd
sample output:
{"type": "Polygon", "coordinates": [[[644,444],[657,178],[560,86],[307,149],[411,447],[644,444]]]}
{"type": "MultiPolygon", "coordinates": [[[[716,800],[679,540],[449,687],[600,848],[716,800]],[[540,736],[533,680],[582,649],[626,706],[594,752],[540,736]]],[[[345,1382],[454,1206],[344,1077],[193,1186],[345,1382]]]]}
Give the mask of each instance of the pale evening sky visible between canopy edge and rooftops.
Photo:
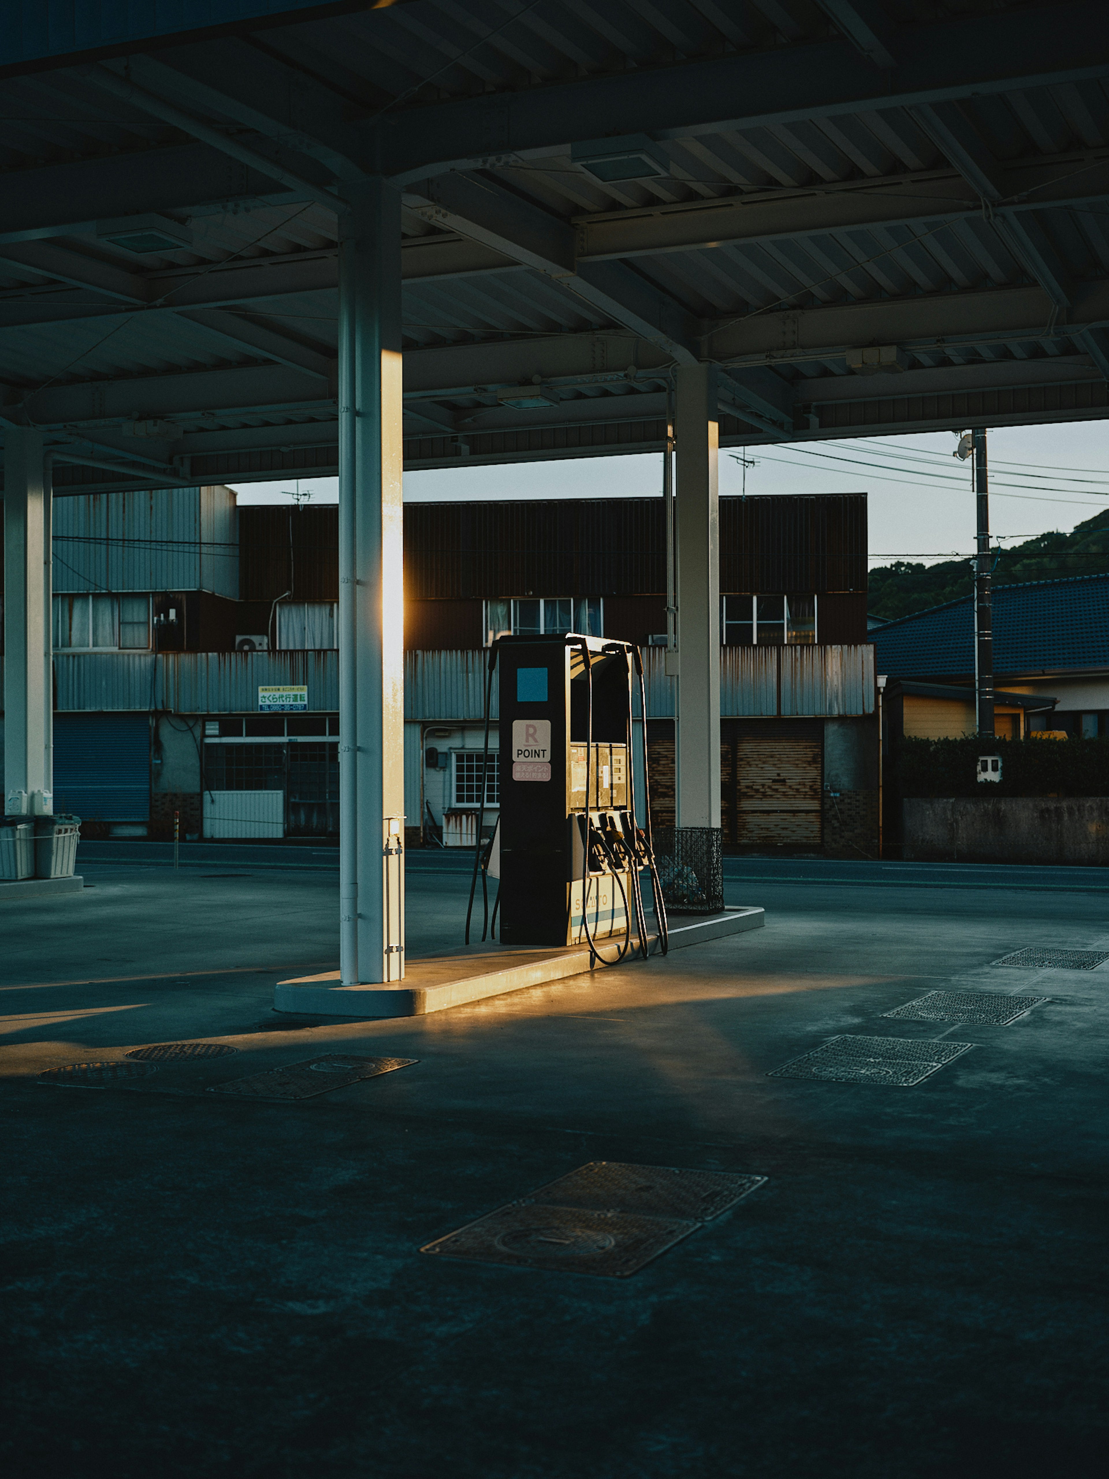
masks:
{"type": "MultiPolygon", "coordinates": [[[[988,433],[991,534],[1019,544],[1047,529],[1072,529],[1109,507],[1109,422],[1000,427],[988,433]]],[[[720,453],[720,493],[866,493],[871,565],[930,565],[974,550],[970,464],[952,457],[951,432],[869,436],[720,453]],[[753,466],[751,466],[753,464],[753,466]]],[[[405,503],[485,498],[651,497],[661,457],[580,457],[408,472],[405,503]]],[[[291,503],[296,481],[240,484],[240,503],[291,503]]],[[[302,497],[336,503],[337,478],[302,479],[302,497]]]]}

